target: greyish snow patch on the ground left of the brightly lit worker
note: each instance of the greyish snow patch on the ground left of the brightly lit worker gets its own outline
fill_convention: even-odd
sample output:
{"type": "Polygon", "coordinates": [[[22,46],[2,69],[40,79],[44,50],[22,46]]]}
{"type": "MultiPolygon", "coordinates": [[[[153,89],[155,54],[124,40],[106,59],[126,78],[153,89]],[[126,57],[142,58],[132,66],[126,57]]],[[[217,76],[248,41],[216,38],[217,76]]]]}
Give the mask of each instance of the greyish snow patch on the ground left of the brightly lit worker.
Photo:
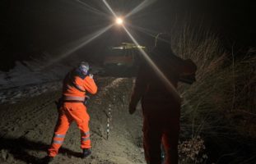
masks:
{"type": "MultiPolygon", "coordinates": [[[[44,67],[41,62],[16,62],[16,66],[8,71],[0,71],[0,104],[17,103],[21,98],[31,98],[41,93],[55,91],[62,87],[61,81],[68,71],[76,66],[76,62],[61,62],[44,67]]],[[[94,73],[100,68],[91,66],[94,73]]]]}

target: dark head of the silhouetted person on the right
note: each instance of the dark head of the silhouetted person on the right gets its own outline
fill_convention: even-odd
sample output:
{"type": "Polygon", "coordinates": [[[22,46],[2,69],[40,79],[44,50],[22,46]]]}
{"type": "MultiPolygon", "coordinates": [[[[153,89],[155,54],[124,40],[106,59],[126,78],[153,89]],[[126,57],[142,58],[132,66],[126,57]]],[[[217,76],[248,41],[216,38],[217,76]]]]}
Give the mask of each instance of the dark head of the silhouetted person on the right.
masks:
{"type": "Polygon", "coordinates": [[[160,33],[156,35],[155,47],[161,52],[171,52],[171,37],[168,33],[160,33]]]}

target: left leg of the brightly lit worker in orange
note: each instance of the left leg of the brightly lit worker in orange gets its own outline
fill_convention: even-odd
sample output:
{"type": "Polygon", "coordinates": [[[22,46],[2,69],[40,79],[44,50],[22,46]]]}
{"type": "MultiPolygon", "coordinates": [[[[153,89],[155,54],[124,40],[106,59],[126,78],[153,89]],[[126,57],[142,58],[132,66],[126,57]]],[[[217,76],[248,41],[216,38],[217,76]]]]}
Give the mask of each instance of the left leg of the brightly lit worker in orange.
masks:
{"type": "Polygon", "coordinates": [[[49,157],[55,157],[58,154],[58,149],[63,144],[70,123],[71,121],[68,120],[66,114],[63,112],[63,109],[61,109],[61,113],[58,114],[58,122],[55,126],[52,144],[48,150],[49,157]]]}

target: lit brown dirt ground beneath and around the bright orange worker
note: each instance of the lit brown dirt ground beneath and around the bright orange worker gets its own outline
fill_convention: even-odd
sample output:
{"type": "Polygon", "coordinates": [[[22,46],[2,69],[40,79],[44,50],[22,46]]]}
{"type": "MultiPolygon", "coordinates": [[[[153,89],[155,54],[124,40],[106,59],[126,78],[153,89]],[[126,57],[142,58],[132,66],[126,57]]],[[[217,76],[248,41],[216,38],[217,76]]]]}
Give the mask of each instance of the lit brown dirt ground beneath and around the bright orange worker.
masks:
{"type": "MultiPolygon", "coordinates": [[[[142,150],[142,114],[128,114],[131,79],[98,78],[99,92],[88,104],[91,116],[92,155],[81,159],[80,132],[72,123],[53,163],[139,164],[142,150]],[[107,139],[107,113],[111,109],[107,139]]],[[[54,133],[58,91],[48,91],[20,103],[0,104],[0,163],[40,163],[54,133]]]]}

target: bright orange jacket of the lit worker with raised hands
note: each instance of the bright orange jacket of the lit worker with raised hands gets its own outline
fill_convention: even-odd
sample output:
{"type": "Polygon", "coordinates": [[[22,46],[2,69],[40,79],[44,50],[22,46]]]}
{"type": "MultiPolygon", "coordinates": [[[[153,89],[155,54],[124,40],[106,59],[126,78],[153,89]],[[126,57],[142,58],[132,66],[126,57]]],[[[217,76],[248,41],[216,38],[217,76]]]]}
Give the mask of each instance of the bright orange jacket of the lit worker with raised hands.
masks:
{"type": "Polygon", "coordinates": [[[89,75],[81,75],[76,69],[70,71],[63,80],[64,99],[72,97],[72,100],[83,101],[86,97],[86,92],[92,94],[97,92],[95,81],[89,75]]]}

